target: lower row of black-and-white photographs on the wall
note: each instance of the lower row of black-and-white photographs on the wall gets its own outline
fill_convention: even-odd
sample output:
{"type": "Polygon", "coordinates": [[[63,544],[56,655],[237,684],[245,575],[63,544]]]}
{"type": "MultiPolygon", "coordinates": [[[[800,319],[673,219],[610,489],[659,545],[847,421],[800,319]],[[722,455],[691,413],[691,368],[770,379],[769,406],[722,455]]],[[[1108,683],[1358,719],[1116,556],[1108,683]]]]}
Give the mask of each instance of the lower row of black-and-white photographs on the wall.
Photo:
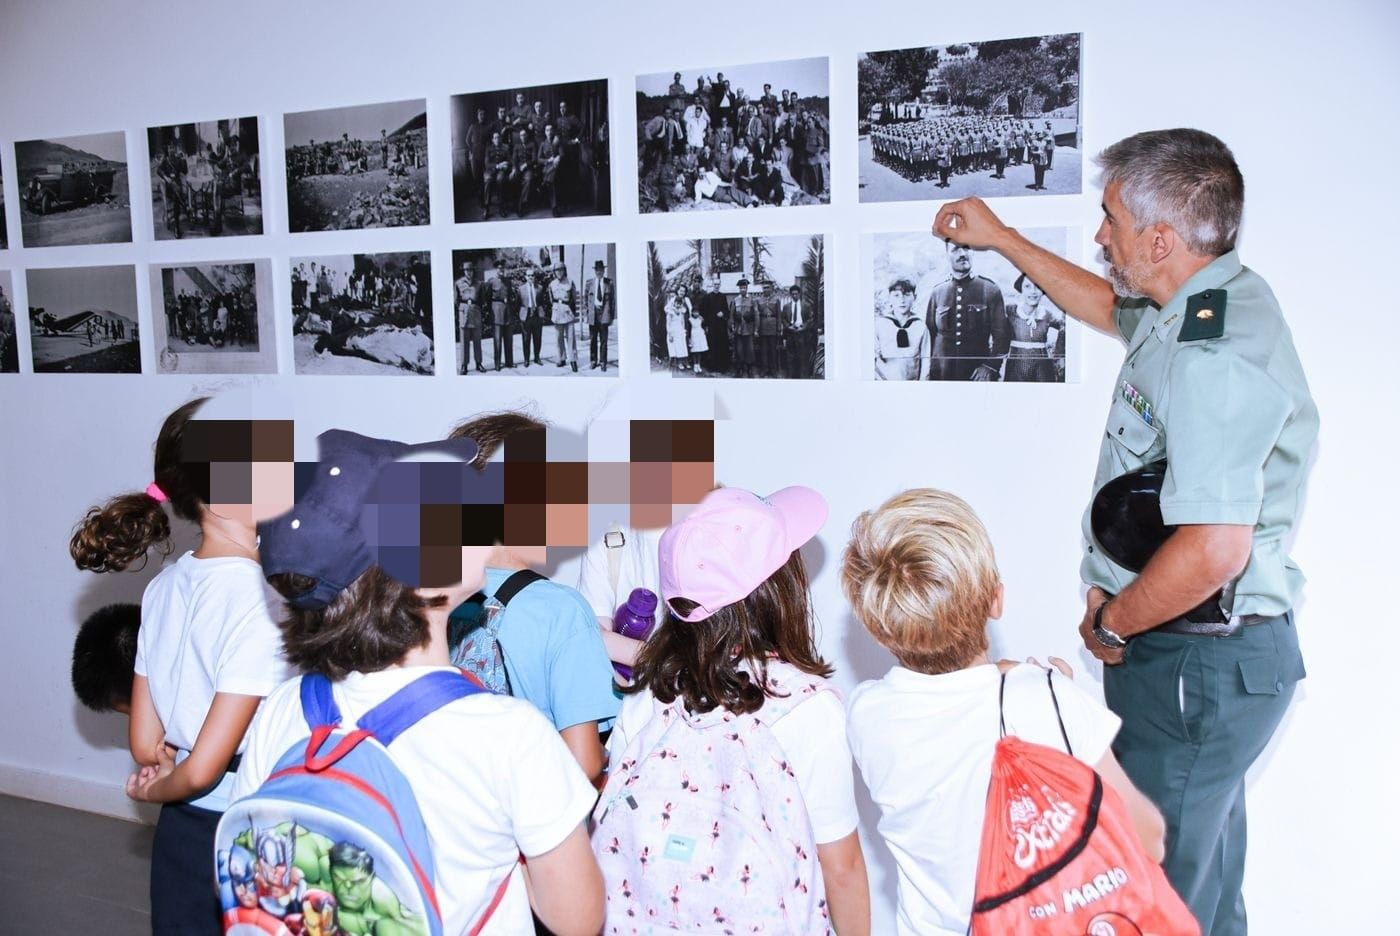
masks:
{"type": "MultiPolygon", "coordinates": [[[[1067,228],[1026,235],[1067,256],[1067,228]]],[[[867,241],[868,325],[855,329],[867,376],[1064,382],[1064,313],[1002,256],[928,234],[867,241]]],[[[641,320],[619,304],[615,260],[612,243],[454,250],[452,334],[440,341],[428,252],[295,257],[283,294],[293,371],[431,375],[437,348],[451,347],[455,372],[473,378],[616,376],[619,332],[641,320]]],[[[652,241],[645,270],[652,372],[826,378],[825,235],[652,241]]],[[[279,371],[269,260],[153,264],[151,316],[137,311],[136,276],[134,266],[28,270],[31,369],[140,374],[146,332],[161,374],[279,371]]],[[[14,374],[11,294],[0,271],[0,371],[14,374]]]]}

